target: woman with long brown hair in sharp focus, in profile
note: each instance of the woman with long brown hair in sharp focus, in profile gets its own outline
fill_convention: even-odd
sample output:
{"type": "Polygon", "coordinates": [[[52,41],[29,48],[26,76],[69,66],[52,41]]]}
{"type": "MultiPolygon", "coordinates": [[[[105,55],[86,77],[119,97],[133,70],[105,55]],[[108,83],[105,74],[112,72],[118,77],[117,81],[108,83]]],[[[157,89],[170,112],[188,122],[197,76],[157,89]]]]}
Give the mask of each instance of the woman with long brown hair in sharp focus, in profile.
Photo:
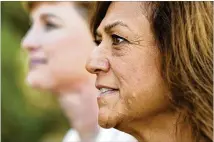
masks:
{"type": "Polygon", "coordinates": [[[96,74],[99,124],[140,142],[211,142],[212,2],[100,2],[96,74]]]}

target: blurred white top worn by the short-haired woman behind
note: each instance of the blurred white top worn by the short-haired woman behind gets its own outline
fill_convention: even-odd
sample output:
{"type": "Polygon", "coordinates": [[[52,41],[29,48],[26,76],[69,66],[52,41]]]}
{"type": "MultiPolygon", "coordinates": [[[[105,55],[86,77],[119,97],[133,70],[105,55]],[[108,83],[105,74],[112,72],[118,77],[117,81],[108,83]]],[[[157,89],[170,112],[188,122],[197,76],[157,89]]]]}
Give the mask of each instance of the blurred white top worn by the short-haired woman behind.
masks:
{"type": "MultiPolygon", "coordinates": [[[[78,132],[70,129],[65,135],[63,142],[81,142],[78,132]]],[[[131,135],[114,128],[100,128],[95,142],[137,142],[131,135]]]]}

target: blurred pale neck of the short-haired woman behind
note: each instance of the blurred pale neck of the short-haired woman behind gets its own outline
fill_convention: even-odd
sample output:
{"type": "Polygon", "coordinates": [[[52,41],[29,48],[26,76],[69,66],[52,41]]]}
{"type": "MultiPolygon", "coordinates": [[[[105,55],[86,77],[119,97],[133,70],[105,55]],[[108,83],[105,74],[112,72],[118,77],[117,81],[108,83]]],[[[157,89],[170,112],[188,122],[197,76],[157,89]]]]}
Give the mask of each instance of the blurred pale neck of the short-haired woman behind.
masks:
{"type": "Polygon", "coordinates": [[[93,142],[98,134],[98,105],[94,80],[76,82],[59,94],[61,107],[83,142],[93,142]]]}

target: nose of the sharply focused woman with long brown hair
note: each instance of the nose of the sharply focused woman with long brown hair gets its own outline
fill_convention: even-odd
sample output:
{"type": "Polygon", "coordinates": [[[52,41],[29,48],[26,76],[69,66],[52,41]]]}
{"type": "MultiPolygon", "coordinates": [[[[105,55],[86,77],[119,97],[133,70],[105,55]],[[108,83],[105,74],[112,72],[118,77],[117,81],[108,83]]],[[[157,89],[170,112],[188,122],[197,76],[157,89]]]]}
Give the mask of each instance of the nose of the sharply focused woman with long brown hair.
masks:
{"type": "Polygon", "coordinates": [[[92,74],[99,72],[108,72],[110,69],[107,55],[99,48],[95,48],[89,56],[86,63],[86,70],[92,74]]]}

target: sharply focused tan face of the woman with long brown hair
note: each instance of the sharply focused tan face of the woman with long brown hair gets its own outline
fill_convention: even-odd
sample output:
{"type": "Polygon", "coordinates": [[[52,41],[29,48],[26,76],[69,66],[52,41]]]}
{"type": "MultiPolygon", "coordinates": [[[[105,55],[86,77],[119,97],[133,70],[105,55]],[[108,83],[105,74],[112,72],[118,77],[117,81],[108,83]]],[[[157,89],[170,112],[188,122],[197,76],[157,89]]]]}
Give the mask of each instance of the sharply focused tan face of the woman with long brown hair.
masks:
{"type": "Polygon", "coordinates": [[[168,108],[161,55],[142,2],[113,2],[97,29],[87,70],[97,75],[99,124],[117,127],[168,108]]]}

